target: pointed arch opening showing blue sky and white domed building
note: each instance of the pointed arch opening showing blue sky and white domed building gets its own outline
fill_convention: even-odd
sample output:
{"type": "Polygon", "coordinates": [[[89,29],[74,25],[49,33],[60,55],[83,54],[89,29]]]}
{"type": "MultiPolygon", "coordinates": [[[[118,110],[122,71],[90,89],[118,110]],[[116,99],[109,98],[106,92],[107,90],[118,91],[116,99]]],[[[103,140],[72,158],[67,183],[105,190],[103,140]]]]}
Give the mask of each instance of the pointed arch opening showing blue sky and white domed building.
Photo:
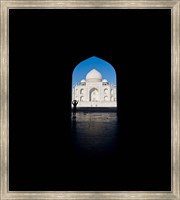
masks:
{"type": "Polygon", "coordinates": [[[75,66],[72,73],[72,101],[77,107],[117,107],[116,72],[107,61],[92,56],[75,66]]]}

